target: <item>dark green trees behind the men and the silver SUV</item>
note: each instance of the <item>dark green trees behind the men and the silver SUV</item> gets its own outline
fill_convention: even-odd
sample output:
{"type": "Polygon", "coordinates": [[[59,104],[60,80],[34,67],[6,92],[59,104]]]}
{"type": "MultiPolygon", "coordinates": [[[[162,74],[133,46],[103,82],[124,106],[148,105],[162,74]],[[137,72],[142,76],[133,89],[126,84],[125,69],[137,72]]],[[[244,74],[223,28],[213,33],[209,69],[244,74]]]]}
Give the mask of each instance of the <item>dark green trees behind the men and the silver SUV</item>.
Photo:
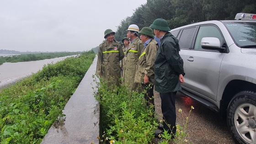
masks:
{"type": "Polygon", "coordinates": [[[133,16],[120,22],[115,39],[122,41],[129,25],[136,24],[141,29],[149,27],[157,18],[164,18],[174,29],[200,21],[234,20],[240,12],[256,13],[256,0],[147,0],[133,16]]]}

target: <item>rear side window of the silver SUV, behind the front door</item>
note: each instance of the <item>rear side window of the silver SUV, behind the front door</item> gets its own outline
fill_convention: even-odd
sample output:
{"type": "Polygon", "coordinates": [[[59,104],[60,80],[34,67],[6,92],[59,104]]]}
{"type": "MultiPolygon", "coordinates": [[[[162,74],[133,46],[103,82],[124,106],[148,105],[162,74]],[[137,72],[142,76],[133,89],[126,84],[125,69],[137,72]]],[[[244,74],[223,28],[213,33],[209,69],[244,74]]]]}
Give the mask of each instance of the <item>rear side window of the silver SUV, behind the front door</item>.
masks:
{"type": "Polygon", "coordinates": [[[181,37],[179,39],[179,45],[181,49],[189,49],[196,27],[183,29],[181,37]]]}

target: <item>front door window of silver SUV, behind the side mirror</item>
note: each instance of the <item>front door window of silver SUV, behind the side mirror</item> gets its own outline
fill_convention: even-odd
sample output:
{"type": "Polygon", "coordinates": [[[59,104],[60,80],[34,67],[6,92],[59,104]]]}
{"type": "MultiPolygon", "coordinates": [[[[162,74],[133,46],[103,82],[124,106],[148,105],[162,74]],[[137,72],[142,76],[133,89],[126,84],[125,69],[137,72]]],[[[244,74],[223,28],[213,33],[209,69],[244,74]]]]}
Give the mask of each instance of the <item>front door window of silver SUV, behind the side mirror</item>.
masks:
{"type": "Polygon", "coordinates": [[[205,50],[201,47],[201,40],[203,37],[217,37],[219,38],[220,43],[222,43],[223,38],[217,29],[217,27],[214,26],[201,26],[197,33],[197,38],[195,42],[194,49],[197,50],[205,50]]]}

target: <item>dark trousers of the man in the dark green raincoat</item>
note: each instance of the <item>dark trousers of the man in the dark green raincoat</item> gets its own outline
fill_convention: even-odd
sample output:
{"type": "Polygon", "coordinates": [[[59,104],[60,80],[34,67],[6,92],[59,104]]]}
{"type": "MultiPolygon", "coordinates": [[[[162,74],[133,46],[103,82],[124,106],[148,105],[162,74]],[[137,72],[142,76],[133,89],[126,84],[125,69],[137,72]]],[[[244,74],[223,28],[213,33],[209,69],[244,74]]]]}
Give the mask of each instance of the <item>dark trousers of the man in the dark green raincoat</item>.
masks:
{"type": "Polygon", "coordinates": [[[168,130],[168,133],[176,133],[176,107],[175,107],[175,92],[160,93],[161,97],[161,108],[163,113],[163,122],[164,129],[168,130]],[[167,124],[170,124],[168,126],[167,124]],[[170,127],[170,128],[169,128],[170,127]]]}

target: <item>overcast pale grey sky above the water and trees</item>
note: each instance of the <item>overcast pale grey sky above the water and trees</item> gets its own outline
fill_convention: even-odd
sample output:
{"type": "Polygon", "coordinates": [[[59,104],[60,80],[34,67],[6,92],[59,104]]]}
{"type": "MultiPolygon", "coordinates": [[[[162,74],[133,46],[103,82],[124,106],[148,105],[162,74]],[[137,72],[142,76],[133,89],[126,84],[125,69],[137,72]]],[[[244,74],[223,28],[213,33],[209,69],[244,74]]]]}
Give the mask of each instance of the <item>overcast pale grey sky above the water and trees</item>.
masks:
{"type": "Polygon", "coordinates": [[[147,0],[0,0],[0,49],[83,51],[147,0]]]}

